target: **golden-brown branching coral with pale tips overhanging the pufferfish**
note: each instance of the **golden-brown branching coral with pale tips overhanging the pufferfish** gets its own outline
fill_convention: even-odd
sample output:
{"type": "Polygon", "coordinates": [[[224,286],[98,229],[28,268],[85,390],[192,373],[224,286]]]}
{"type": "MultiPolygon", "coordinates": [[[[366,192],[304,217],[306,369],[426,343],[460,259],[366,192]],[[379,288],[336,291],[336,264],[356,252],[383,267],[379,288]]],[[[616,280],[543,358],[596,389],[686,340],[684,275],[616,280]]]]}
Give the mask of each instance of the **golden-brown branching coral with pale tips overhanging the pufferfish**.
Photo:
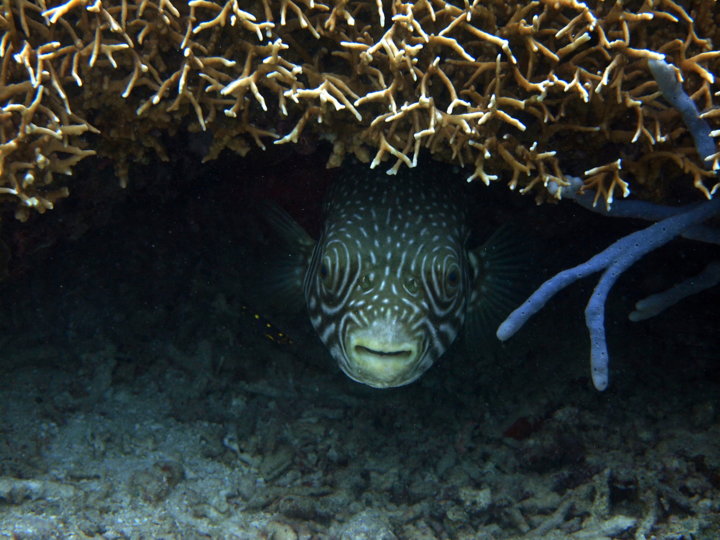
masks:
{"type": "Polygon", "coordinates": [[[720,68],[714,2],[17,0],[0,28],[0,189],[29,208],[93,153],[122,182],[167,158],[165,133],[208,131],[207,158],[304,133],[389,172],[427,149],[545,193],[579,174],[610,203],[628,185],[662,196],[713,169],[647,65],[665,58],[711,127],[720,68]],[[712,15],[712,8],[710,15],[712,15]],[[578,148],[578,143],[581,148],[578,148]],[[587,149],[592,153],[588,154],[587,149]]]}

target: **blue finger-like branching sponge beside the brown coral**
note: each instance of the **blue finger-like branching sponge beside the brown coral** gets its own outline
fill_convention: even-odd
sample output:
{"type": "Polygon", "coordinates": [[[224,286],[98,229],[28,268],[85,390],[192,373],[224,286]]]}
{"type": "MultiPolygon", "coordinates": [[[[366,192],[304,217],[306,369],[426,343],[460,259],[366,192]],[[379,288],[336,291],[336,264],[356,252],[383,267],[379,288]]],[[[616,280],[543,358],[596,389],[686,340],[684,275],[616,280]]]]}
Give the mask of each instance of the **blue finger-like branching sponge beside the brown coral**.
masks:
{"type": "MultiPolygon", "coordinates": [[[[709,124],[700,117],[693,100],[685,93],[676,68],[664,60],[654,58],[648,60],[648,66],[663,97],[680,112],[685,125],[693,136],[700,158],[704,163],[708,163],[716,155],[713,132],[709,124]]],[[[581,186],[582,182],[579,179],[568,178],[566,186],[550,185],[548,189],[551,193],[557,193],[558,197],[565,195],[590,210],[598,211],[591,202],[594,200],[592,194],[583,193],[581,186]]],[[[720,198],[684,208],[662,207],[643,201],[624,201],[619,208],[608,209],[602,213],[658,221],[645,229],[621,238],[588,261],[563,270],[547,280],[519,308],[513,311],[497,330],[497,337],[501,341],[509,339],[557,292],[585,276],[603,271],[585,308],[585,324],[590,332],[592,380],[598,390],[605,390],[608,386],[609,357],[605,339],[605,301],[610,289],[618,277],[638,259],[664,246],[677,236],[685,235],[688,238],[704,242],[720,243],[720,234],[717,230],[702,226],[702,223],[708,218],[720,213],[720,198]]],[[[637,306],[637,311],[631,315],[631,320],[650,317],[678,299],[701,290],[700,287],[712,286],[718,282],[718,279],[720,278],[717,265],[712,264],[706,272],[701,276],[696,276],[690,282],[682,283],[665,293],[641,301],[637,306]]]]}

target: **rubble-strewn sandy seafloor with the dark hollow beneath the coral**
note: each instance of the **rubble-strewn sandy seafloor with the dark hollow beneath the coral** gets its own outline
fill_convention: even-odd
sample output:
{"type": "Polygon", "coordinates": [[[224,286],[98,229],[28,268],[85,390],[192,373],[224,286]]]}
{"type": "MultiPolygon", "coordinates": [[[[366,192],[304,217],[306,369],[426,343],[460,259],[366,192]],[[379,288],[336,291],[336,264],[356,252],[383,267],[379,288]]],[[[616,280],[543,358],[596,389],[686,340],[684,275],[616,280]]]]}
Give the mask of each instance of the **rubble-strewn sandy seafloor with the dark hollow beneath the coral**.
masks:
{"type": "MultiPolygon", "coordinates": [[[[619,282],[604,393],[593,280],[506,345],[377,391],[243,309],[242,200],[133,197],[2,285],[0,538],[720,538],[720,295],[626,321],[706,246],[619,282]]],[[[554,269],[634,230],[541,208],[554,269]]]]}

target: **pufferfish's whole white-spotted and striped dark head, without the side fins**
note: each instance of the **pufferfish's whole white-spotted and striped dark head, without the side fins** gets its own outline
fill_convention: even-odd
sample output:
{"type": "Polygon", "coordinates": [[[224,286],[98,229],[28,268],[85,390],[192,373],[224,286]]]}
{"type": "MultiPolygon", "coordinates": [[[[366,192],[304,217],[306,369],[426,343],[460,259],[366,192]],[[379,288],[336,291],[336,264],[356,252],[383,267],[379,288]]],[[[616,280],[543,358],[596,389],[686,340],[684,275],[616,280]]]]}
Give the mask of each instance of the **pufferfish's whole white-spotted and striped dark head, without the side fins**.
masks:
{"type": "Polygon", "coordinates": [[[466,239],[462,206],[439,183],[361,173],[334,187],[304,290],[350,378],[402,386],[442,356],[465,319],[466,239]]]}

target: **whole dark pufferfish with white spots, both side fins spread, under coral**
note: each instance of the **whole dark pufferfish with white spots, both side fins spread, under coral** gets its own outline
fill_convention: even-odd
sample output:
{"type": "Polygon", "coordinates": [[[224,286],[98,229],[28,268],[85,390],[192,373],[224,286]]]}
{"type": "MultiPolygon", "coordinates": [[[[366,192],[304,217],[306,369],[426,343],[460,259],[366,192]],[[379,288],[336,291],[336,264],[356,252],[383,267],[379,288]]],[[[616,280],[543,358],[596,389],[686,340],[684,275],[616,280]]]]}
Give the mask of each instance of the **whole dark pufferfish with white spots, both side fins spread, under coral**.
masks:
{"type": "Polygon", "coordinates": [[[470,249],[468,211],[452,180],[346,167],[324,201],[317,241],[284,210],[265,209],[290,251],[270,271],[274,294],[305,304],[357,382],[410,384],[466,324],[486,326],[514,307],[517,243],[501,228],[470,249]]]}

